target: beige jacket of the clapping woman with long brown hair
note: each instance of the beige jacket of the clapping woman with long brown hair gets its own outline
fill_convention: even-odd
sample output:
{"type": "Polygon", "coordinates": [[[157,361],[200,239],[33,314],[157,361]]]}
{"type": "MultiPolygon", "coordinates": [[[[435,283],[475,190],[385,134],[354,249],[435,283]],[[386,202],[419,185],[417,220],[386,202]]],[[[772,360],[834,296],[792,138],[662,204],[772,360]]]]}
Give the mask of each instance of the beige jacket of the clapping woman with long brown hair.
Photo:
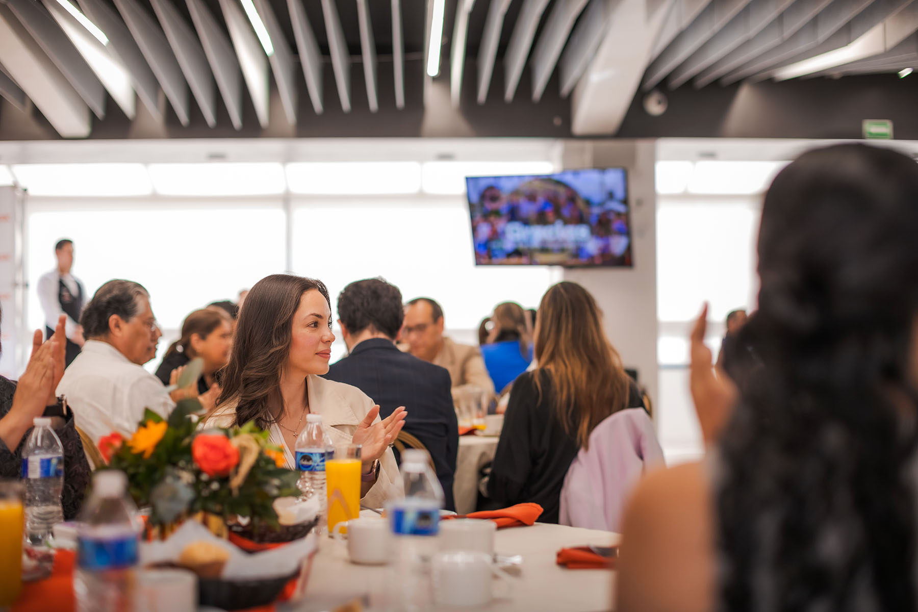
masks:
{"type": "MultiPolygon", "coordinates": [[[[350,444],[360,421],[374,406],[373,400],[355,386],[327,381],[312,374],[307,377],[306,384],[309,410],[322,416],[322,427],[328,432],[331,442],[350,444]]],[[[237,402],[233,400],[218,406],[202,427],[232,427],[236,424],[236,405],[237,402]]],[[[379,417],[376,417],[374,422],[379,422],[379,417]]],[[[284,435],[276,424],[272,425],[269,431],[271,442],[284,449],[286,467],[293,470],[296,465],[293,451],[296,449],[286,447],[284,435]]],[[[379,478],[361,500],[364,506],[381,508],[385,506],[386,501],[404,496],[401,475],[398,473],[392,449],[386,449],[379,463],[379,478]]]]}

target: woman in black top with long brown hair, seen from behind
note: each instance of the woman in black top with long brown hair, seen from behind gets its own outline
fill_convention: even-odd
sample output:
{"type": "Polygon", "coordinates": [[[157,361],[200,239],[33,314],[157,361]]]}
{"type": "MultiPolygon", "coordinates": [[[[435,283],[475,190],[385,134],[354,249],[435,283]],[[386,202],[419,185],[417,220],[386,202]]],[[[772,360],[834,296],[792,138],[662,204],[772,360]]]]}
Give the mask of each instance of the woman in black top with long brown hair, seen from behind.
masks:
{"type": "Polygon", "coordinates": [[[548,289],[534,337],[538,367],[513,384],[487,491],[501,505],[535,502],[540,521],[557,523],[567,469],[590,432],[644,402],[602,330],[596,300],[579,284],[548,289]]]}

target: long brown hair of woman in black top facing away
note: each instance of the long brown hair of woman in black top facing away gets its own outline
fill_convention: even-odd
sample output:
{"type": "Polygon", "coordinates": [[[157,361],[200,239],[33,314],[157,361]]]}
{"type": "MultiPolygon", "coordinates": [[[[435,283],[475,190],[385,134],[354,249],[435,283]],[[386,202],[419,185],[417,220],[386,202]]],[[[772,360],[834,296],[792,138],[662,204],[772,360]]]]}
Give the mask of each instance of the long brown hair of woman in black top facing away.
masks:
{"type": "Polygon", "coordinates": [[[628,374],[602,330],[596,300],[579,284],[552,285],[537,318],[536,391],[541,401],[546,377],[551,381],[558,421],[586,449],[593,428],[627,407],[628,374]]]}

